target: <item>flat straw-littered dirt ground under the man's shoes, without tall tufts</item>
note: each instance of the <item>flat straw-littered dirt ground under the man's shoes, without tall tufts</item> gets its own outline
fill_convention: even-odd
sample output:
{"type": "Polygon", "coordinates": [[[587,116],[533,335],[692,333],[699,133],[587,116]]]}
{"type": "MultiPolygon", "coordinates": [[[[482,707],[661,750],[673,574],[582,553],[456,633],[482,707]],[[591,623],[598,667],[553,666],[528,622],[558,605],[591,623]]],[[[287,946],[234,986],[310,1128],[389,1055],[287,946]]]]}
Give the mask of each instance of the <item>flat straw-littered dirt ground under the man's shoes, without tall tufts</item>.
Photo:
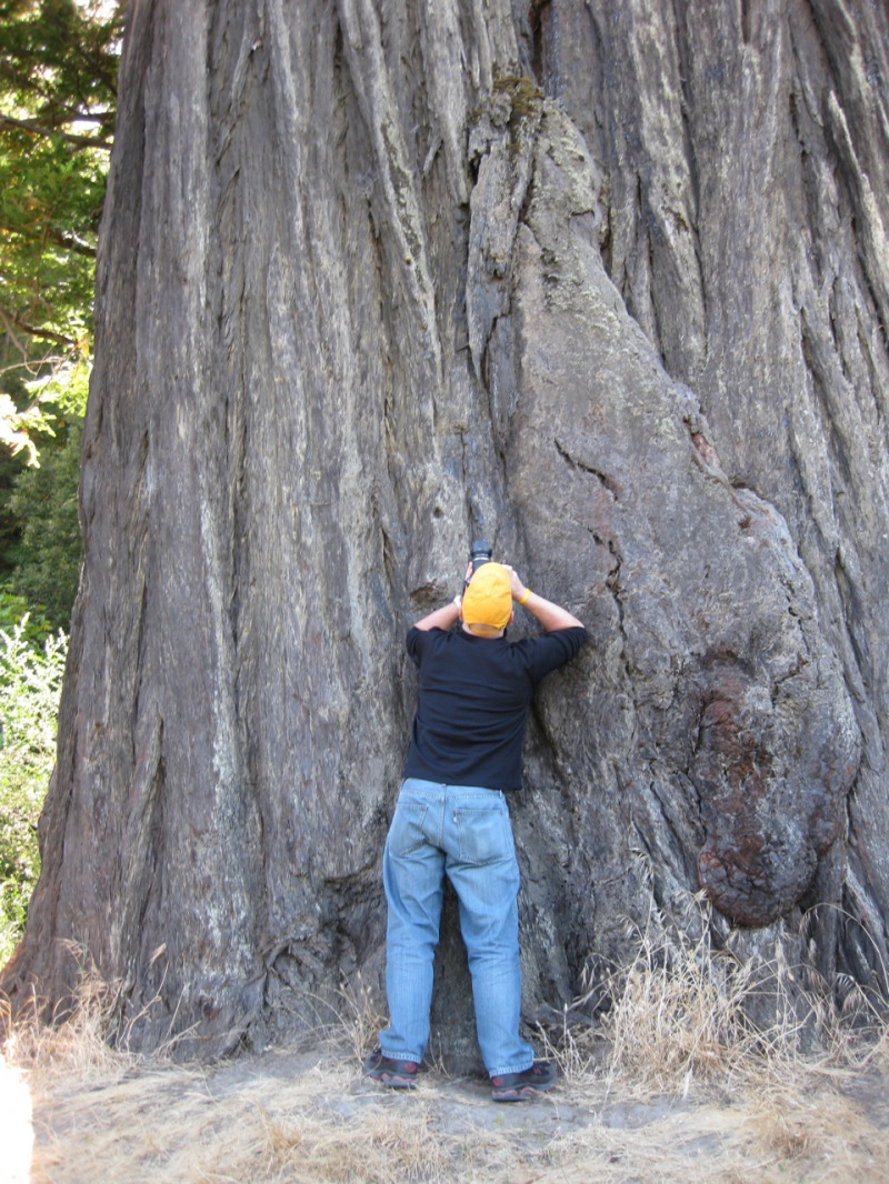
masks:
{"type": "Polygon", "coordinates": [[[436,1072],[386,1090],[327,1045],[204,1069],[0,1062],[7,1184],[889,1184],[888,1135],[877,1069],[685,1081],[672,1096],[587,1073],[495,1105],[484,1081],[436,1072]]]}

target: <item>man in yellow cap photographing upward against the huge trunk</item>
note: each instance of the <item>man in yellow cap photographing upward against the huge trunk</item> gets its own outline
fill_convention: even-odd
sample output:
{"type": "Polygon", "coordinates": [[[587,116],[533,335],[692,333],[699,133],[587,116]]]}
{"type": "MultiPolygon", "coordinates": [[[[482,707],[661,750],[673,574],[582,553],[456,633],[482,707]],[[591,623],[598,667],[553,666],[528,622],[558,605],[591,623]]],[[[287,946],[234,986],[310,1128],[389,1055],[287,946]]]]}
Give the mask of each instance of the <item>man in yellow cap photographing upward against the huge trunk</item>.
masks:
{"type": "Polygon", "coordinates": [[[519,1036],[519,870],[504,794],[522,784],[535,687],[577,654],[587,632],[565,609],[526,588],[511,567],[484,562],[474,573],[471,565],[469,574],[462,600],[408,632],[420,700],[383,855],[390,1021],[364,1070],[395,1088],[416,1085],[429,1040],[447,875],[458,895],[492,1096],[518,1101],[551,1089],[556,1073],[535,1061],[519,1036]],[[543,637],[506,641],[513,601],[537,619],[543,637]]]}

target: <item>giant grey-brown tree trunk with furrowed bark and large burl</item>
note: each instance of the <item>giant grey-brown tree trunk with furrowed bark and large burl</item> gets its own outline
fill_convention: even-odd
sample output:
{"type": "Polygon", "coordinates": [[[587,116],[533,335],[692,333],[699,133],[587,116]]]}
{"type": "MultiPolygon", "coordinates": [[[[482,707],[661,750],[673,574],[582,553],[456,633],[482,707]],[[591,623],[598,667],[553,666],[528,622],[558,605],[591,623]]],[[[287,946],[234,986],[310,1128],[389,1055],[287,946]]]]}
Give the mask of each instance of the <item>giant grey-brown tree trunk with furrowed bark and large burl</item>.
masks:
{"type": "MultiPolygon", "coordinates": [[[[69,939],[135,1038],[219,1051],[378,984],[403,636],[478,534],[591,635],[513,802],[527,1014],[699,889],[741,955],[885,985],[887,33],[866,0],[134,0],[7,989],[63,999],[69,939]]],[[[472,1060],[452,912],[442,954],[472,1060]]]]}

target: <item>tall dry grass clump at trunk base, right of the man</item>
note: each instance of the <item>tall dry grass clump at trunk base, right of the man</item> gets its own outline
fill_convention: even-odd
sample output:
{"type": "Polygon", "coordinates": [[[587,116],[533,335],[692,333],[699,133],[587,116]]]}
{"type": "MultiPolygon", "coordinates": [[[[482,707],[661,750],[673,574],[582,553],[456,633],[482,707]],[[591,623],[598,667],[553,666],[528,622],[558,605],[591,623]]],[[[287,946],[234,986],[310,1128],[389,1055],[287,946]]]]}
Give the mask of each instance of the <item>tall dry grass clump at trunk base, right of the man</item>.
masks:
{"type": "Polygon", "coordinates": [[[564,1009],[562,1030],[542,1034],[569,1081],[597,1073],[609,1090],[687,1096],[692,1083],[731,1087],[889,1067],[881,997],[843,978],[831,989],[810,969],[792,967],[781,940],[770,959],[715,950],[703,896],[691,901],[686,921],[671,926],[653,912],[644,931],[633,931],[628,965],[593,964],[588,989],[564,1009]],[[597,1022],[571,1023],[593,998],[597,1022]]]}

